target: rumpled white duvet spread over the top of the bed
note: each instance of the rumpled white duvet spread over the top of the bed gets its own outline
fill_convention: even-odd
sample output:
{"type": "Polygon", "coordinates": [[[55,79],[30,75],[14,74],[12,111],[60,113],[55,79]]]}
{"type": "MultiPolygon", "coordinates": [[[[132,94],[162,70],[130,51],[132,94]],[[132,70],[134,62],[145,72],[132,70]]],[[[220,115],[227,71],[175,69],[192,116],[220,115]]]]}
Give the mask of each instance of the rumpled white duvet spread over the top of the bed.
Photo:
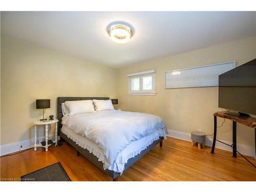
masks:
{"type": "Polygon", "coordinates": [[[164,137],[166,133],[163,120],[158,116],[117,110],[64,116],[62,124],[97,144],[105,156],[104,169],[112,165],[132,141],[156,131],[162,130],[164,137]]]}

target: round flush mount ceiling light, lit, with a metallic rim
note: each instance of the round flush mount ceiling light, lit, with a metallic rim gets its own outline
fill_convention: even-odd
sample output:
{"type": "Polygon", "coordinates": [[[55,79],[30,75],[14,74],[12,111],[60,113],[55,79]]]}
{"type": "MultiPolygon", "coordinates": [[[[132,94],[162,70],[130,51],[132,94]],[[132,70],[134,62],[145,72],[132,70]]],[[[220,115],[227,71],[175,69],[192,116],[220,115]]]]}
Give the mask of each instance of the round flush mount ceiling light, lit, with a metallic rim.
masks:
{"type": "Polygon", "coordinates": [[[125,44],[133,36],[132,27],[124,22],[111,23],[107,30],[111,39],[118,44],[125,44]]]}

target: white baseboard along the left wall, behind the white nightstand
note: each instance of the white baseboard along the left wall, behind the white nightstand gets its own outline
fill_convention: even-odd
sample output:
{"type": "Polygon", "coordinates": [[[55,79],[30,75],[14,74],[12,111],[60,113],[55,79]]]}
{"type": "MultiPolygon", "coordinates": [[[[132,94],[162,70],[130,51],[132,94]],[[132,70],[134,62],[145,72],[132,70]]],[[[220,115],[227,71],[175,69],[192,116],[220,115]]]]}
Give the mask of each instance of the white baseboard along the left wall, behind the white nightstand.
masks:
{"type": "MultiPolygon", "coordinates": [[[[55,140],[55,134],[48,135],[49,140],[55,140]]],[[[59,136],[57,137],[59,139],[59,136]]],[[[38,138],[39,141],[45,139],[45,136],[41,136],[38,138]]],[[[35,140],[34,139],[27,139],[23,141],[18,141],[14,143],[8,143],[0,146],[0,155],[7,155],[10,153],[18,152],[27,150],[28,148],[34,147],[35,140]],[[20,147],[22,146],[22,147],[20,147]]]]}

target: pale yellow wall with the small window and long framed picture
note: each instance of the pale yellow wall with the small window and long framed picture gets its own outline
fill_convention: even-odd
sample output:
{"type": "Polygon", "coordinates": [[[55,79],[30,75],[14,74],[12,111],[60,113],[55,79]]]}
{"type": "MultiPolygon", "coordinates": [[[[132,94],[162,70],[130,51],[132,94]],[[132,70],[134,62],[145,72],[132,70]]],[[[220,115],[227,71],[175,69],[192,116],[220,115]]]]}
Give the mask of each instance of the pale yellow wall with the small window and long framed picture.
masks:
{"type": "MultiPolygon", "coordinates": [[[[212,114],[218,108],[218,87],[164,89],[164,72],[236,61],[237,66],[256,58],[256,37],[208,47],[172,57],[154,59],[118,70],[118,98],[122,110],[160,116],[169,130],[213,133],[212,114]],[[127,74],[156,70],[156,96],[129,96],[127,74]]],[[[218,125],[223,119],[218,118],[218,125]]],[[[232,141],[231,121],[218,129],[218,138],[232,141]]],[[[238,143],[254,147],[254,130],[238,123],[238,143]]]]}

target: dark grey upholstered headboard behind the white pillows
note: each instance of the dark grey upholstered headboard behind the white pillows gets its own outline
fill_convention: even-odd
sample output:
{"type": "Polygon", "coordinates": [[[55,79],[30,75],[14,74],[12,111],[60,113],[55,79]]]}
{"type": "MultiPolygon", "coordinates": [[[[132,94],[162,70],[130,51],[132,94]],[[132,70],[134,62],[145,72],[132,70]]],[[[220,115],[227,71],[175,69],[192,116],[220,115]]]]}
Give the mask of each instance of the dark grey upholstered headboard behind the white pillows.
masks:
{"type": "Polygon", "coordinates": [[[93,99],[108,100],[110,98],[109,97],[58,97],[57,98],[57,119],[59,120],[58,121],[58,135],[59,135],[59,131],[62,127],[61,119],[63,117],[61,103],[65,102],[65,101],[93,100],[93,99]]]}

